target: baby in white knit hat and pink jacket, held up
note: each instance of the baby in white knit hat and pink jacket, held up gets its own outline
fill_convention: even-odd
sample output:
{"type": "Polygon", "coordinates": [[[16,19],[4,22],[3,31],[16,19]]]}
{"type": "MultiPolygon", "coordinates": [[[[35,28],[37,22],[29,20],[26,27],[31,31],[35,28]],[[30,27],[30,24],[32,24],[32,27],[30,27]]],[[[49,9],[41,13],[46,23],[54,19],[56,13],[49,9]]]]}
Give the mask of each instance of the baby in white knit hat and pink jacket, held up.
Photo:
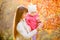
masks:
{"type": "Polygon", "coordinates": [[[28,14],[26,16],[26,22],[30,26],[31,30],[34,30],[38,27],[38,24],[40,23],[39,15],[37,12],[36,5],[29,5],[28,6],[28,14]]]}

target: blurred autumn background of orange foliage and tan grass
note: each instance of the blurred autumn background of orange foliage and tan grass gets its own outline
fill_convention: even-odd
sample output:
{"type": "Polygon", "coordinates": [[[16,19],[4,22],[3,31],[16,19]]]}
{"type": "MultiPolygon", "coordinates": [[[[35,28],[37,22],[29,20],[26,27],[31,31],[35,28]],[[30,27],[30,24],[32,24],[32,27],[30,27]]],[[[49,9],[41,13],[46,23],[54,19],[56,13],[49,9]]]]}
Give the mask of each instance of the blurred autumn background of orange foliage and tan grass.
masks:
{"type": "Polygon", "coordinates": [[[60,40],[60,0],[0,0],[0,40],[13,40],[13,19],[19,5],[37,5],[44,23],[37,40],[60,40]]]}

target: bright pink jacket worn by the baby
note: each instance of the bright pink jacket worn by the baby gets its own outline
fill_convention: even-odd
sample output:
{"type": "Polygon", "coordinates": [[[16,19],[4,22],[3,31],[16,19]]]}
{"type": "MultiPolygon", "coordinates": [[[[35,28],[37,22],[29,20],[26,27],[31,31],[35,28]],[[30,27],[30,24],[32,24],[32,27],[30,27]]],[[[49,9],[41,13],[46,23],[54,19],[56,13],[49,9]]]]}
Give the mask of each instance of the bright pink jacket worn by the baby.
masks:
{"type": "Polygon", "coordinates": [[[38,14],[36,13],[36,15],[32,16],[30,14],[28,14],[26,16],[26,22],[27,24],[30,26],[31,30],[34,30],[38,27],[38,14]]]}

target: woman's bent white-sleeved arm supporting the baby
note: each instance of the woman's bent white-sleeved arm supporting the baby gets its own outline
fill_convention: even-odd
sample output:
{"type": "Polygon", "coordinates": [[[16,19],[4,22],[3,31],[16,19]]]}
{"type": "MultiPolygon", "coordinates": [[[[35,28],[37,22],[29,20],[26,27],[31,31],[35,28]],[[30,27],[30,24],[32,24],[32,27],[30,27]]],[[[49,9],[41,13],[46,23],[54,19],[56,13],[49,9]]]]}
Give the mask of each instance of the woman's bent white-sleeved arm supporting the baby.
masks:
{"type": "Polygon", "coordinates": [[[32,36],[34,36],[37,33],[36,29],[27,33],[27,31],[25,30],[25,28],[23,27],[22,24],[17,25],[17,31],[25,38],[31,38],[32,36]]]}

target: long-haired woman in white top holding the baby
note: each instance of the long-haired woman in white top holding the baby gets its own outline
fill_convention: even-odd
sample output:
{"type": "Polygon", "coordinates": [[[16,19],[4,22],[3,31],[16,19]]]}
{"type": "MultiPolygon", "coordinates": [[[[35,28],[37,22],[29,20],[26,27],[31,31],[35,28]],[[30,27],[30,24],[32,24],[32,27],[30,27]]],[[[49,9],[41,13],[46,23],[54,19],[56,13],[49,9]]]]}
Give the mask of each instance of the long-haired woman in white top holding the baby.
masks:
{"type": "Polygon", "coordinates": [[[25,7],[19,7],[15,16],[14,40],[31,40],[30,38],[37,33],[37,29],[31,31],[31,28],[25,21],[28,10],[25,7]]]}

